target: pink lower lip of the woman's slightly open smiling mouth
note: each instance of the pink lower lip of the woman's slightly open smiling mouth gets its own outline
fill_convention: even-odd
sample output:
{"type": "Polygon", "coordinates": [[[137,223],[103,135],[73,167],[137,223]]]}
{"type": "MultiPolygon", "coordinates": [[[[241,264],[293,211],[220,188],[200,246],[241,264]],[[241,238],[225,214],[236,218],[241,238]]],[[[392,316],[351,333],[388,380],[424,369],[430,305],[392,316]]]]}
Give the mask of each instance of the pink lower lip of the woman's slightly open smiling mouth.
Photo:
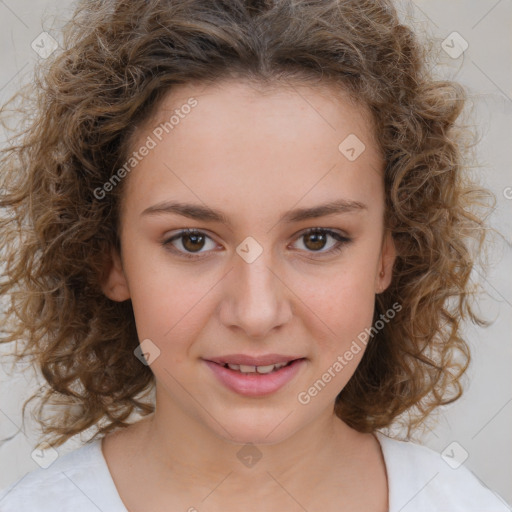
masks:
{"type": "Polygon", "coordinates": [[[296,359],[291,364],[271,373],[241,373],[212,361],[205,361],[205,363],[220,382],[235,393],[245,396],[264,396],[275,393],[290,382],[306,360],[296,359]]]}

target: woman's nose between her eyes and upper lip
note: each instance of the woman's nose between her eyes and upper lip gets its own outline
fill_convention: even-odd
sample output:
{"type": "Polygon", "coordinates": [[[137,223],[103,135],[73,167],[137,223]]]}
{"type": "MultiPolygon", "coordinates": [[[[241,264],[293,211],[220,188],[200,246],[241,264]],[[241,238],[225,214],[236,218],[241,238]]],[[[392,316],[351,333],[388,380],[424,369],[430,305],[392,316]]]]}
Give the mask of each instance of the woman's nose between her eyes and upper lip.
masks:
{"type": "Polygon", "coordinates": [[[224,283],[220,320],[251,338],[268,336],[292,317],[291,291],[267,252],[252,263],[235,254],[234,268],[224,283]]]}

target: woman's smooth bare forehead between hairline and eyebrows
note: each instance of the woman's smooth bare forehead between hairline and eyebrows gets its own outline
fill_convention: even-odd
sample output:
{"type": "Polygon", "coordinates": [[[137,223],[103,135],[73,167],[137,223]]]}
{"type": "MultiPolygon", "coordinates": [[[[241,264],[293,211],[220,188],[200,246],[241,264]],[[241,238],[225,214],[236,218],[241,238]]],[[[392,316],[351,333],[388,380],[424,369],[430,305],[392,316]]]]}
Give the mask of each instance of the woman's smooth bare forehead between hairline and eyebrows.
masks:
{"type": "Polygon", "coordinates": [[[383,161],[371,116],[328,86],[180,85],[136,133],[132,149],[148,137],[155,142],[128,180],[127,193],[141,207],[172,194],[233,211],[248,203],[273,211],[330,190],[361,202],[381,194],[383,161]],[[351,160],[347,150],[360,155],[351,160]]]}

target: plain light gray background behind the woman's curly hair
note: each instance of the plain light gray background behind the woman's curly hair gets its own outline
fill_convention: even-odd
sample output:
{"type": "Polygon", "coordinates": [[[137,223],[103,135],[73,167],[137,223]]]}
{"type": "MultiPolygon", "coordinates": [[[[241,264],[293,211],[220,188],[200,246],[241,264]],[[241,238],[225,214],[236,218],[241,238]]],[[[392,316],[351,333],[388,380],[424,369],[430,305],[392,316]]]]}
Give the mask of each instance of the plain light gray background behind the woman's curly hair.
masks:
{"type": "MultiPolygon", "coordinates": [[[[30,79],[34,62],[41,58],[32,41],[42,31],[59,41],[59,27],[72,6],[62,0],[0,0],[0,103],[30,79]]],[[[404,0],[399,6],[404,20],[435,36],[439,48],[454,31],[469,44],[458,59],[441,50],[436,71],[463,83],[473,98],[473,122],[481,137],[478,174],[497,197],[491,221],[504,236],[492,245],[490,273],[486,278],[478,269],[475,273],[488,292],[481,311],[495,321],[487,329],[467,327],[473,363],[466,393],[440,412],[436,428],[425,433],[423,442],[442,452],[456,441],[469,454],[464,464],[512,503],[512,1],[404,0]]],[[[0,143],[4,141],[2,135],[0,143]]],[[[18,430],[23,400],[38,381],[30,368],[14,376],[0,371],[1,438],[18,430]]],[[[37,430],[35,424],[27,425],[24,434],[0,446],[0,489],[38,467],[31,458],[37,430]]],[[[58,452],[67,453],[80,443],[72,439],[58,452]]]]}

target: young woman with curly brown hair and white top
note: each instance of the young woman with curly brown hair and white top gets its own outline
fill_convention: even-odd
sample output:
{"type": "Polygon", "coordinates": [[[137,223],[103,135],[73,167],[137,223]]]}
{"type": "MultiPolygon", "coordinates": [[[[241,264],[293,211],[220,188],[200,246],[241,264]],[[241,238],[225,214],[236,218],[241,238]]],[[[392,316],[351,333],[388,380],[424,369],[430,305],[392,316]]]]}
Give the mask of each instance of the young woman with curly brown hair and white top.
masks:
{"type": "Polygon", "coordinates": [[[4,151],[1,290],[65,406],[41,457],[97,433],[0,510],[508,510],[385,435],[460,396],[479,321],[423,52],[388,1],[78,4],[4,151]]]}

